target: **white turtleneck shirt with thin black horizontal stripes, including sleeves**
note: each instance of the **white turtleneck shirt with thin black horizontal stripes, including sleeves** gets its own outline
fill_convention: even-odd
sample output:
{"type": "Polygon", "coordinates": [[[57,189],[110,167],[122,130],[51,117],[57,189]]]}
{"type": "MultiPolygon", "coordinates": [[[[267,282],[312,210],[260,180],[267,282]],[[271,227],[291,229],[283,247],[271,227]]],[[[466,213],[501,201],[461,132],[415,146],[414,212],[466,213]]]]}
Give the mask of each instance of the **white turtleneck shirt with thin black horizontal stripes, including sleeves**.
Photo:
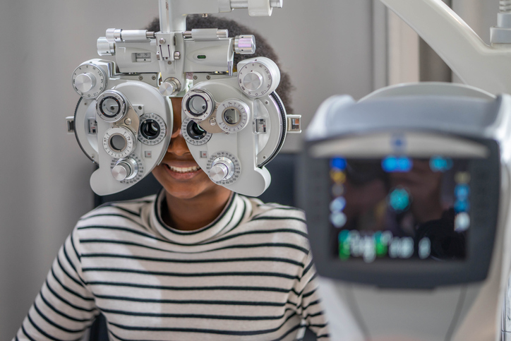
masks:
{"type": "Polygon", "coordinates": [[[162,222],[163,191],[78,221],[15,340],[327,340],[301,210],[234,194],[210,225],[162,222]]]}

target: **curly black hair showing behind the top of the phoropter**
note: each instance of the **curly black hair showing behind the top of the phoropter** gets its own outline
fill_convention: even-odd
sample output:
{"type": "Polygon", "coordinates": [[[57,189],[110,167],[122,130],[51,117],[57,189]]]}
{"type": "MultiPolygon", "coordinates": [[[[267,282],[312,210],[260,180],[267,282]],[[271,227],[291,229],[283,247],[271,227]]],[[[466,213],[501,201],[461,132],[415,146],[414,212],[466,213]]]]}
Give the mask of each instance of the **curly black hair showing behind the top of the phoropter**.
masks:
{"type": "MultiPolygon", "coordinates": [[[[254,35],[256,48],[254,55],[247,54],[234,54],[234,65],[238,64],[239,61],[244,59],[253,58],[253,56],[265,56],[272,61],[275,61],[275,64],[279,66],[279,57],[275,53],[275,50],[268,44],[267,40],[264,37],[259,35],[257,32],[253,32],[250,28],[247,28],[244,25],[236,23],[234,20],[218,18],[214,16],[208,16],[203,18],[199,15],[188,16],[186,18],[186,28],[191,30],[193,28],[220,28],[222,30],[229,30],[229,36],[234,37],[236,35],[254,35]]],[[[158,32],[160,31],[160,19],[155,18],[152,20],[152,23],[146,28],[146,30],[158,32]]],[[[293,85],[291,84],[291,79],[289,78],[289,74],[282,71],[280,68],[280,83],[276,90],[279,94],[284,107],[286,108],[287,114],[293,114],[293,109],[291,108],[291,90],[293,90],[293,85]]]]}

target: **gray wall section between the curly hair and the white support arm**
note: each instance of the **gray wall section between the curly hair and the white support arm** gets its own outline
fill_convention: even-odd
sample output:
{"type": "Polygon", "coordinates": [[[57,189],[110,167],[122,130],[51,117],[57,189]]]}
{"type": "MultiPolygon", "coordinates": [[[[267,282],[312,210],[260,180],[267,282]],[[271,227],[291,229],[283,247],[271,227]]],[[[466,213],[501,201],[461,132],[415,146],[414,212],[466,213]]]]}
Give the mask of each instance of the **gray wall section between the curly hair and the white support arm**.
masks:
{"type": "MultiPolygon", "coordinates": [[[[223,14],[258,30],[279,54],[281,68],[291,75],[295,114],[311,120],[323,100],[346,93],[356,99],[373,90],[373,1],[284,1],[269,18],[246,11],[223,14]]],[[[289,135],[284,151],[300,148],[301,136],[289,135]]]]}

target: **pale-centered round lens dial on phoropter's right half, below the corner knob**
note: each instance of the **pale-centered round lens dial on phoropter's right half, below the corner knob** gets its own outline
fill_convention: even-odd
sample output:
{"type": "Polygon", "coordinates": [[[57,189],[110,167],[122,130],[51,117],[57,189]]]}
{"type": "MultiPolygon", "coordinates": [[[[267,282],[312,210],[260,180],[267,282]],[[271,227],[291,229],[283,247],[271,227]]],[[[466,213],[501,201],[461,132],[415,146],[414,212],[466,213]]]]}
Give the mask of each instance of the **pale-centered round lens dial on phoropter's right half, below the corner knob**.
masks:
{"type": "Polygon", "coordinates": [[[245,102],[232,98],[224,100],[217,109],[217,123],[226,133],[236,133],[248,123],[250,108],[245,102]]]}

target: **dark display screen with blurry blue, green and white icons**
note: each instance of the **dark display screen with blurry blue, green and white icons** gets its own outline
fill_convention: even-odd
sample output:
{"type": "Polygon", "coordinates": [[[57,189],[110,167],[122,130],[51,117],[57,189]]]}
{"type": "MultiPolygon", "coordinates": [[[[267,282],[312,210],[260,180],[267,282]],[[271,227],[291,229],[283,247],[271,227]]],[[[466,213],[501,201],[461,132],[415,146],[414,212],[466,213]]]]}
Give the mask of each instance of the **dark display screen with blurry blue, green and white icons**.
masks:
{"type": "Polygon", "coordinates": [[[330,159],[333,254],[341,261],[464,260],[469,159],[330,159]]]}

